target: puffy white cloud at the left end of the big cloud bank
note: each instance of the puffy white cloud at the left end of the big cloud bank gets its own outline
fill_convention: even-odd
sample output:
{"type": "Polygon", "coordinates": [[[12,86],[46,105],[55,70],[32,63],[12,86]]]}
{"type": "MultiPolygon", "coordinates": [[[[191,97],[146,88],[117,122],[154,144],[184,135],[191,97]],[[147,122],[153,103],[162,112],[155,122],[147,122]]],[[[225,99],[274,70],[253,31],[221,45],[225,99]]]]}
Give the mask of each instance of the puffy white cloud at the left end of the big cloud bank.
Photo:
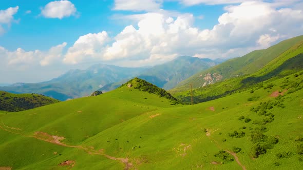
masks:
{"type": "Polygon", "coordinates": [[[68,49],[64,62],[75,64],[91,58],[101,58],[103,45],[108,40],[106,31],[80,36],[73,46],[68,49]]]}

